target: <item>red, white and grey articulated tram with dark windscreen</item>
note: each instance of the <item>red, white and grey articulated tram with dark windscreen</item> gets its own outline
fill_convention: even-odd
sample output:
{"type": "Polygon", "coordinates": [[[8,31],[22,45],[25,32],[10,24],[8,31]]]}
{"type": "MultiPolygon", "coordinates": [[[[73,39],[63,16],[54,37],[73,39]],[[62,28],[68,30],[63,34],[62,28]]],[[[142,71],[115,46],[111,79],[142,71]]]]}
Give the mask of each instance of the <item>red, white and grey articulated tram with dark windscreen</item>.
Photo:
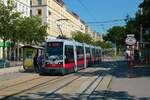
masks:
{"type": "Polygon", "coordinates": [[[77,72],[101,61],[101,48],[72,40],[47,40],[40,74],[77,72]]]}

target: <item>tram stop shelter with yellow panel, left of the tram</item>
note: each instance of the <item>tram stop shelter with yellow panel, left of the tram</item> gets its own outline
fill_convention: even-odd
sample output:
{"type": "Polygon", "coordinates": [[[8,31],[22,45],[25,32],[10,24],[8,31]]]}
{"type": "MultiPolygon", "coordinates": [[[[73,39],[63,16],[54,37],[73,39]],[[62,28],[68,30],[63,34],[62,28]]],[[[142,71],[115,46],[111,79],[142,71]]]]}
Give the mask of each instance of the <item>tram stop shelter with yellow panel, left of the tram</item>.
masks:
{"type": "Polygon", "coordinates": [[[34,57],[43,54],[43,47],[25,45],[23,48],[23,68],[25,71],[34,71],[34,57]]]}

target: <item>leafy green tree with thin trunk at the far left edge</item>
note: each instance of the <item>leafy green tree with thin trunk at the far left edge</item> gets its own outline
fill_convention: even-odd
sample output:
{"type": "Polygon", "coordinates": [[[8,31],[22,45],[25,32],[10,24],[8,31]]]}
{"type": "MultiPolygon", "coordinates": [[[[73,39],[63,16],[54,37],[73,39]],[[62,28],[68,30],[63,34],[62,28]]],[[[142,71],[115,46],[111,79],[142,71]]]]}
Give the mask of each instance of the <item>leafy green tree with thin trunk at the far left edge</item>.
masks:
{"type": "Polygon", "coordinates": [[[16,7],[13,0],[7,0],[4,5],[0,0],[0,38],[3,40],[3,58],[5,59],[5,42],[12,38],[15,33],[15,22],[20,18],[20,13],[15,11],[16,7]]]}

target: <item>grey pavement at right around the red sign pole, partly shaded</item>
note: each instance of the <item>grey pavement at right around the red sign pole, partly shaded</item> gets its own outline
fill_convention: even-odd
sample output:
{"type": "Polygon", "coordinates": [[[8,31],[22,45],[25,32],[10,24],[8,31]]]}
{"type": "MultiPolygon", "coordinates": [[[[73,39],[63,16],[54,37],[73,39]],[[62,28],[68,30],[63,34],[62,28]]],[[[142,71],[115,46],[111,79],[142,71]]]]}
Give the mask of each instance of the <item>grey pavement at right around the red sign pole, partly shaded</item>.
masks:
{"type": "Polygon", "coordinates": [[[150,100],[150,67],[133,67],[116,63],[111,90],[106,100],[150,100]]]}

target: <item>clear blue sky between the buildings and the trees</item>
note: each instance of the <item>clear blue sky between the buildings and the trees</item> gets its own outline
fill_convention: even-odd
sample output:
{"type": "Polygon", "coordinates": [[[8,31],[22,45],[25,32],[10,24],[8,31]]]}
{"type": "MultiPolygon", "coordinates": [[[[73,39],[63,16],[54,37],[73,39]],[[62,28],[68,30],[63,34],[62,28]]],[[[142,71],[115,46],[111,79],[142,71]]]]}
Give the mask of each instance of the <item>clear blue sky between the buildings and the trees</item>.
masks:
{"type": "Polygon", "coordinates": [[[125,25],[122,19],[134,17],[144,0],[64,0],[67,9],[77,13],[95,32],[105,34],[109,28],[125,25]],[[120,20],[120,21],[114,21],[120,20]],[[105,22],[106,23],[103,23],[105,22]],[[91,24],[89,22],[101,22],[91,24]]]}

